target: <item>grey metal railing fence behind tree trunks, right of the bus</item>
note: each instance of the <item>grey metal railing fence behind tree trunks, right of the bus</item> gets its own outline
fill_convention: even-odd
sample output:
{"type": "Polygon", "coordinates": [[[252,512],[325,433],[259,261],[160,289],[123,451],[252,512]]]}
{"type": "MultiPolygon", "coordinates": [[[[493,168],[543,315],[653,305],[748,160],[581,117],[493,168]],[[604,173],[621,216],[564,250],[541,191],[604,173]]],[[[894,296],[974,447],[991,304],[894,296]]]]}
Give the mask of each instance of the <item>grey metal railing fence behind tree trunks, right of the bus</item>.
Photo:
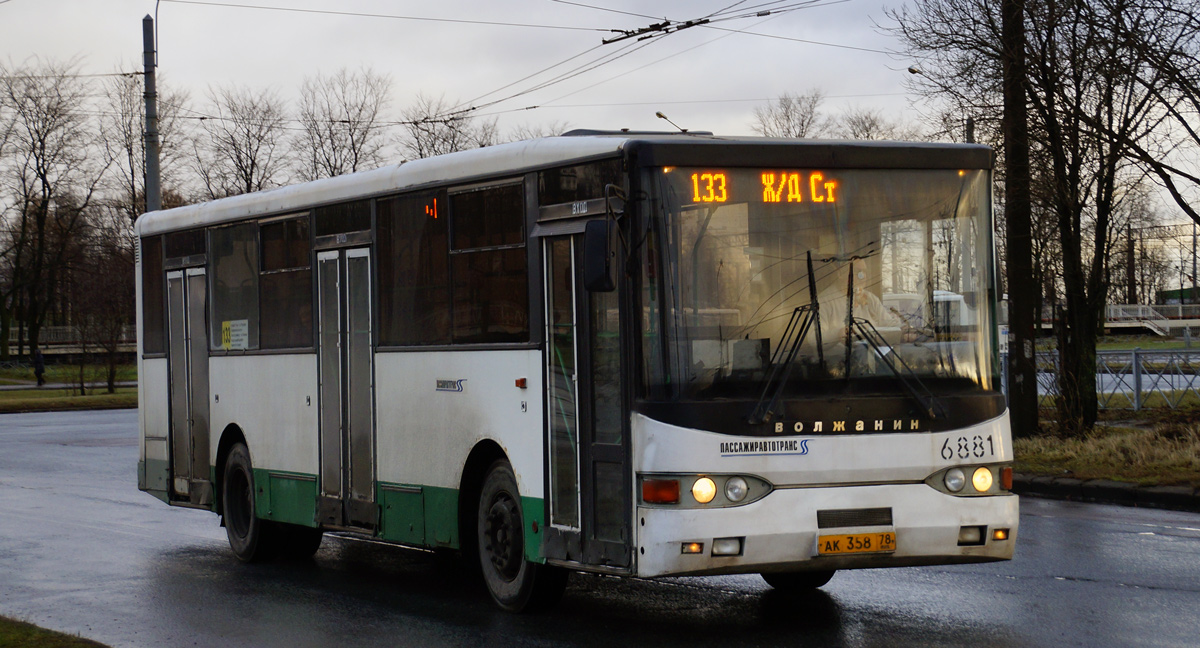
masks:
{"type": "MultiPolygon", "coordinates": [[[[1008,358],[1001,355],[1001,386],[1008,394],[1008,358]]],[[[1058,396],[1058,354],[1038,353],[1038,396],[1058,396]]],[[[1100,409],[1169,407],[1200,400],[1200,349],[1112,350],[1096,354],[1096,398],[1100,409]]]]}

